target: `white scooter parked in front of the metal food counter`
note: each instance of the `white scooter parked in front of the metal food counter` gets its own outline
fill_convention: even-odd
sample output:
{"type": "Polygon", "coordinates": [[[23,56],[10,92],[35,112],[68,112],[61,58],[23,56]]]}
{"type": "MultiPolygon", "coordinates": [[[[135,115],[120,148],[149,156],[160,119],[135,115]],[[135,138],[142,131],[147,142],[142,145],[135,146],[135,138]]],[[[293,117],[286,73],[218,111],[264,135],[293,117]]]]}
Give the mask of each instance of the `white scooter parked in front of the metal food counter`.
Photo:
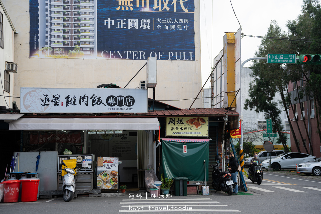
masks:
{"type": "MultiPolygon", "coordinates": [[[[65,167],[66,164],[64,162],[61,163],[65,167]]],[[[64,175],[64,181],[62,183],[62,192],[64,194],[64,201],[71,201],[74,197],[74,192],[76,189],[75,175],[76,172],[73,169],[65,168],[64,169],[67,174],[64,175]]]]}

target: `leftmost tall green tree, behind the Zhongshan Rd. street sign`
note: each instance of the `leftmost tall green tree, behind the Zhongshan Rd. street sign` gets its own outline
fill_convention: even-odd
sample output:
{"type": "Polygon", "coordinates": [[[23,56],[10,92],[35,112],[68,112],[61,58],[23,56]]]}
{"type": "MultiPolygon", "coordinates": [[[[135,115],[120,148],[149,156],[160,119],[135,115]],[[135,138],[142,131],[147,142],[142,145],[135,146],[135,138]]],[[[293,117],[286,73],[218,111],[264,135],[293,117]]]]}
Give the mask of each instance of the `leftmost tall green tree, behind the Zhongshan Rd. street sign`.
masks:
{"type": "MultiPolygon", "coordinates": [[[[284,32],[282,33],[276,21],[273,21],[270,24],[266,37],[280,36],[284,36],[284,32]]],[[[265,57],[267,53],[273,53],[272,51],[275,51],[273,49],[282,49],[279,40],[262,39],[255,55],[257,57],[265,57]]],[[[279,134],[279,140],[285,151],[288,152],[286,138],[282,134],[283,125],[280,119],[281,110],[279,102],[274,99],[275,93],[280,89],[278,86],[281,86],[282,90],[284,88],[285,82],[283,82],[282,78],[282,68],[279,64],[267,64],[263,61],[255,60],[251,69],[253,70],[251,76],[254,78],[254,81],[250,83],[250,99],[245,100],[244,108],[254,109],[257,113],[264,112],[266,119],[272,119],[273,133],[277,132],[279,134]]]]}

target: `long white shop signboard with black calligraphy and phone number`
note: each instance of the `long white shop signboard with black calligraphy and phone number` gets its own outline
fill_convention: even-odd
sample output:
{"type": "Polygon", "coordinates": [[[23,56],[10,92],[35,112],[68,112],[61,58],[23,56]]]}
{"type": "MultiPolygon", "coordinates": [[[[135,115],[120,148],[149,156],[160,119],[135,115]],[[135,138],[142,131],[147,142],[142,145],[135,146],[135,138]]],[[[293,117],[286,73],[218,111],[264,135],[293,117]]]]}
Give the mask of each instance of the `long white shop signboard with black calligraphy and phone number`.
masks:
{"type": "Polygon", "coordinates": [[[147,89],[21,88],[21,113],[147,113],[147,89]]]}

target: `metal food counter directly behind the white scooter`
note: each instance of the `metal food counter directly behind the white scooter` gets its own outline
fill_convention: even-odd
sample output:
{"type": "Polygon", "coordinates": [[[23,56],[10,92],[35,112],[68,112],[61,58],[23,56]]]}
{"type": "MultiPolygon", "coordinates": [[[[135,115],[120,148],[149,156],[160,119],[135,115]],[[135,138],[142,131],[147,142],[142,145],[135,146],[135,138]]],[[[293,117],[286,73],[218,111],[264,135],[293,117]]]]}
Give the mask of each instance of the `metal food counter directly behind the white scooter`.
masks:
{"type": "Polygon", "coordinates": [[[93,154],[80,154],[80,155],[58,155],[58,172],[57,172],[57,190],[62,188],[62,179],[61,179],[61,162],[63,160],[77,160],[77,175],[76,180],[76,190],[88,190],[93,189],[93,173],[95,170],[94,159],[95,155],[93,154]]]}

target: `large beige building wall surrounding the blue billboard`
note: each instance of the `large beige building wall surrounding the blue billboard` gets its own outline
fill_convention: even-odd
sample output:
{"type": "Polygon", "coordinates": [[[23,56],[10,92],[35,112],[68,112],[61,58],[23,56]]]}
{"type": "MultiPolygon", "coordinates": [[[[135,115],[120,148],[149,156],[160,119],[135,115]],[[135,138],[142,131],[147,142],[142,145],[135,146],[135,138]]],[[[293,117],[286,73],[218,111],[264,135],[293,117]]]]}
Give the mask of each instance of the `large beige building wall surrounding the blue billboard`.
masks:
{"type": "MultiPolygon", "coordinates": [[[[19,32],[14,38],[14,60],[19,64],[18,73],[14,77],[15,97],[20,96],[20,87],[96,88],[100,84],[114,83],[123,88],[147,62],[29,58],[29,0],[3,0],[3,3],[16,31],[19,32]]],[[[202,88],[199,13],[199,1],[195,0],[195,61],[158,60],[156,100],[180,108],[189,108],[202,88]],[[178,99],[180,101],[169,101],[178,99]]],[[[139,81],[146,80],[145,68],[126,88],[136,88],[139,81]]],[[[152,90],[149,98],[152,98],[152,90]]],[[[20,108],[20,99],[15,98],[15,101],[20,108]]],[[[197,99],[192,108],[200,107],[201,99],[197,99]]]]}

